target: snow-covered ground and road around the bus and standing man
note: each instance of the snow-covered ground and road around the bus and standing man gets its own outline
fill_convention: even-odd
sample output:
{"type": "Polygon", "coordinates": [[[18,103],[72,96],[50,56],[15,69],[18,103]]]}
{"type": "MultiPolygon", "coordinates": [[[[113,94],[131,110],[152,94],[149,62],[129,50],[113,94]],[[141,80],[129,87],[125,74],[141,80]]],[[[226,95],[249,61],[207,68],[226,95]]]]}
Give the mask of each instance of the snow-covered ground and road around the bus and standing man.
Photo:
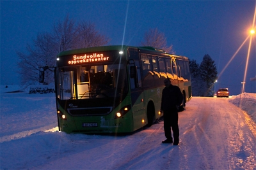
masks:
{"type": "Polygon", "coordinates": [[[173,146],[163,121],[125,136],[58,132],[54,94],[7,93],[18,90],[1,85],[0,169],[256,169],[256,94],[193,97],[173,146]]]}

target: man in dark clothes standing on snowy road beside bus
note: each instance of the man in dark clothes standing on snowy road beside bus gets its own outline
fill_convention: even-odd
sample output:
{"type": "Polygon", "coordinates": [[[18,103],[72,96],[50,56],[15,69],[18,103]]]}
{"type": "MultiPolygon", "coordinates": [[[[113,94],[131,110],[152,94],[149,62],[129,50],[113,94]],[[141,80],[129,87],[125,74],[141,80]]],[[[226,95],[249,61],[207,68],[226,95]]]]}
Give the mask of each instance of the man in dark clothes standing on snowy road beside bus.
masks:
{"type": "Polygon", "coordinates": [[[162,143],[173,143],[179,145],[178,110],[183,101],[179,87],[172,85],[169,78],[164,79],[165,88],[162,92],[161,113],[164,113],[164,135],[162,143]],[[172,130],[171,130],[172,128],[172,130]],[[172,140],[172,131],[173,138],[172,140]]]}

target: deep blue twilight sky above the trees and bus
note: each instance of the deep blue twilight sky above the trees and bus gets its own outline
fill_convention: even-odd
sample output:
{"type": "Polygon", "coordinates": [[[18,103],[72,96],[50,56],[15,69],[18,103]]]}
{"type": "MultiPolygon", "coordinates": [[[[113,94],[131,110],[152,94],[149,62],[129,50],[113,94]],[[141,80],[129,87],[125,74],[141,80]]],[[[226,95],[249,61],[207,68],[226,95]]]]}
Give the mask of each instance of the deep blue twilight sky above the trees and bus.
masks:
{"type": "MultiPolygon", "coordinates": [[[[226,66],[249,35],[255,14],[255,0],[242,1],[2,1],[1,0],[1,84],[19,84],[16,51],[38,32],[67,14],[77,22],[95,23],[111,38],[108,45],[138,46],[150,28],[158,28],[177,55],[202,62],[205,54],[215,61],[218,73],[226,66]]],[[[230,94],[241,92],[249,40],[230,62],[218,83],[230,94]]],[[[245,92],[256,92],[256,35],[246,74],[245,92]]]]}

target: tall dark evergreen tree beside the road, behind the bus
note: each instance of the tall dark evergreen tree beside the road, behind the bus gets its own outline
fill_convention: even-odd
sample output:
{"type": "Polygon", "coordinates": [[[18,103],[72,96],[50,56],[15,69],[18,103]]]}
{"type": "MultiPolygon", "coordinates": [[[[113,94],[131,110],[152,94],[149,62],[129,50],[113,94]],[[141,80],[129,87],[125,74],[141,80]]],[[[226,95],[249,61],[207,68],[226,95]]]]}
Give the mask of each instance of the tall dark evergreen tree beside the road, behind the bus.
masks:
{"type": "MultiPolygon", "coordinates": [[[[204,92],[204,96],[213,96],[212,86],[217,78],[217,68],[214,64],[214,60],[211,59],[210,55],[205,54],[204,58],[199,66],[200,78],[206,83],[207,89],[204,92]]],[[[202,89],[204,90],[204,89],[202,89]]]]}

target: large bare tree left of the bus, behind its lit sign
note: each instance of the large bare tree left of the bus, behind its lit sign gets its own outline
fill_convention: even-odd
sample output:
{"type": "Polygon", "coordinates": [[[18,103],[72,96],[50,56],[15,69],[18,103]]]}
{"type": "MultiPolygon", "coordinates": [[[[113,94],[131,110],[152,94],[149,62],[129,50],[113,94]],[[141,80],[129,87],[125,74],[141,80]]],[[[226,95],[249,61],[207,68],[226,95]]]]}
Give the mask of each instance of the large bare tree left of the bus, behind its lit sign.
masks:
{"type": "MultiPolygon", "coordinates": [[[[22,85],[38,81],[39,67],[56,65],[56,55],[65,50],[105,45],[109,39],[99,34],[94,24],[76,22],[67,15],[63,21],[53,25],[52,32],[38,33],[26,53],[17,52],[20,59],[20,77],[22,85]]],[[[54,82],[52,71],[45,71],[45,83],[54,82]]]]}

